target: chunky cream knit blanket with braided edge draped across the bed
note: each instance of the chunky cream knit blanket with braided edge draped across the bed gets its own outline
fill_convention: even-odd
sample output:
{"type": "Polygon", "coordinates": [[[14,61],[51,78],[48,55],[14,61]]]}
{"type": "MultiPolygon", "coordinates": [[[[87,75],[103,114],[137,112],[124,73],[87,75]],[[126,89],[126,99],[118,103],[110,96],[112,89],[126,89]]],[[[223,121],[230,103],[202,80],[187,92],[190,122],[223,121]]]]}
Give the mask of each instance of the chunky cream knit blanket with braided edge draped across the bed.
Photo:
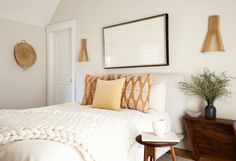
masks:
{"type": "Polygon", "coordinates": [[[1,110],[0,145],[44,139],[75,147],[86,161],[126,161],[136,131],[115,116],[46,109],[1,110]]]}

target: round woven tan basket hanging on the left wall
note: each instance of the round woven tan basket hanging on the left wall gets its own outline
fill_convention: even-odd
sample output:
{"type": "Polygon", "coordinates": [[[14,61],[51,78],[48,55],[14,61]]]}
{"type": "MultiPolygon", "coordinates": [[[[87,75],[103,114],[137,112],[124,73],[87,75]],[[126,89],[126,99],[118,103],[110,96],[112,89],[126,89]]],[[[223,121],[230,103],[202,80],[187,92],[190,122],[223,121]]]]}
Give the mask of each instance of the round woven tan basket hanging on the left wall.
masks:
{"type": "Polygon", "coordinates": [[[14,54],[16,62],[24,70],[27,70],[36,62],[36,52],[34,48],[25,40],[22,40],[20,43],[16,44],[14,54]]]}

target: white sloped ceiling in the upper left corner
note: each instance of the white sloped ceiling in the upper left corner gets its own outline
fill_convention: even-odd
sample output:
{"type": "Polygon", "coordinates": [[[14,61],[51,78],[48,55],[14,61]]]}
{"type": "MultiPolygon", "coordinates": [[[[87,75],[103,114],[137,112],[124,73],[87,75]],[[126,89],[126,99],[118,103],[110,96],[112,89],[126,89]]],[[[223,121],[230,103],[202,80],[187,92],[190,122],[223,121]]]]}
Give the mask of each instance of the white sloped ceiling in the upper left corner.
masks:
{"type": "Polygon", "coordinates": [[[49,23],[60,0],[0,0],[0,17],[32,25],[49,23]]]}

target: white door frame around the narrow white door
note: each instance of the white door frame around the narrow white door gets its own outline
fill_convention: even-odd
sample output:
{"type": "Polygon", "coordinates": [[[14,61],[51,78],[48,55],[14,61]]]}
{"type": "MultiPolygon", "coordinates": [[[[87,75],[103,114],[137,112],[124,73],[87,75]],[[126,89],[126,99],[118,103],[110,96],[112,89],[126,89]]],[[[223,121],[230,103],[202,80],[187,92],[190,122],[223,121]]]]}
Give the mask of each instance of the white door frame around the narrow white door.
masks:
{"type": "Polygon", "coordinates": [[[47,105],[53,105],[54,98],[54,54],[53,54],[53,34],[60,30],[71,30],[71,74],[72,74],[72,100],[75,101],[75,61],[76,61],[76,20],[68,20],[51,24],[46,27],[47,33],[47,105]]]}

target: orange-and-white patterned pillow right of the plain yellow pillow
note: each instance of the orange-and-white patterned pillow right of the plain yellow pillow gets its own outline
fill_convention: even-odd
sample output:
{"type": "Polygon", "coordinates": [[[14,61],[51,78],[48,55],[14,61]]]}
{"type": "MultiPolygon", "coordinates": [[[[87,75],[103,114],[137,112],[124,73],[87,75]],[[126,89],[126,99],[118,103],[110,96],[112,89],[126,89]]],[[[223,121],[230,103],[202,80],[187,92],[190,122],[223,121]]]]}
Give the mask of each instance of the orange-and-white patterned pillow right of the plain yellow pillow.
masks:
{"type": "Polygon", "coordinates": [[[149,107],[151,82],[151,74],[126,76],[126,82],[121,99],[121,107],[147,112],[149,107]]]}

